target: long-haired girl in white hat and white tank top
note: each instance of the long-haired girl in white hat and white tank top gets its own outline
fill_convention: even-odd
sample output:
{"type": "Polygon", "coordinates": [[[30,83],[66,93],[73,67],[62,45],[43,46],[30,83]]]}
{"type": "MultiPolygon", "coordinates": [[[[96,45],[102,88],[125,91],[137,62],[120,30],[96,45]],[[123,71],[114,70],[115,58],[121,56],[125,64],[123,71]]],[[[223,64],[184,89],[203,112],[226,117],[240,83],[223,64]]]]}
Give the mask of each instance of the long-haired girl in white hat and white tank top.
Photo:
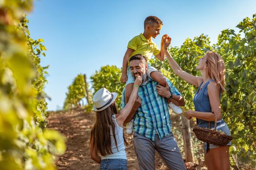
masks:
{"type": "Polygon", "coordinates": [[[135,112],[130,115],[132,109],[137,110],[141,104],[138,97],[141,82],[141,77],[136,77],[130,99],[118,113],[115,103],[117,93],[100,88],[93,96],[96,121],[91,131],[90,154],[100,164],[100,170],[127,170],[123,124],[133,118],[135,112]]]}

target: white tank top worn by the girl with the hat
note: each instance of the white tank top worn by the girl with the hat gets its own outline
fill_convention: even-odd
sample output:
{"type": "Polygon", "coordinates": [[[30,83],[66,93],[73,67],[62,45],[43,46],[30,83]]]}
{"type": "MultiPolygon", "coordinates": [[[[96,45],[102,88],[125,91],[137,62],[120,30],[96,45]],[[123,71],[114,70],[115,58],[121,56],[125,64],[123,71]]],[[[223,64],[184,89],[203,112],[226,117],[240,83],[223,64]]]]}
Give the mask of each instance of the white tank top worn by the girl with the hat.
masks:
{"type": "Polygon", "coordinates": [[[110,127],[112,154],[109,154],[107,156],[101,156],[101,159],[127,159],[126,153],[125,153],[125,147],[124,147],[124,140],[123,140],[123,128],[118,125],[115,115],[112,115],[112,118],[115,122],[115,127],[116,127],[115,136],[117,140],[118,150],[116,147],[112,128],[110,127]]]}

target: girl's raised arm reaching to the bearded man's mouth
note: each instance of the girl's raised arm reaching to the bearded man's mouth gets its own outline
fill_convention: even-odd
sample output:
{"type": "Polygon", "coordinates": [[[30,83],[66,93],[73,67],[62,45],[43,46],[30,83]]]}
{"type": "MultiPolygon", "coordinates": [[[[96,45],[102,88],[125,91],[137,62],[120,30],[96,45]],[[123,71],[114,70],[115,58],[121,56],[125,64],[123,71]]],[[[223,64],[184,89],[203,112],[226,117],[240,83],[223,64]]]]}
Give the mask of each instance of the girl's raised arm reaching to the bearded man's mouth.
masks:
{"type": "MultiPolygon", "coordinates": [[[[134,85],[139,86],[139,85],[141,85],[141,83],[142,83],[142,79],[140,76],[138,76],[135,79],[134,85]]],[[[133,91],[131,93],[129,101],[124,106],[124,108],[119,111],[119,114],[116,117],[119,126],[121,126],[121,127],[123,126],[123,123],[128,116],[133,116],[133,115],[129,115],[129,114],[131,113],[133,105],[134,105],[135,101],[137,100],[137,95],[138,95],[138,87],[133,86],[133,91]]]]}

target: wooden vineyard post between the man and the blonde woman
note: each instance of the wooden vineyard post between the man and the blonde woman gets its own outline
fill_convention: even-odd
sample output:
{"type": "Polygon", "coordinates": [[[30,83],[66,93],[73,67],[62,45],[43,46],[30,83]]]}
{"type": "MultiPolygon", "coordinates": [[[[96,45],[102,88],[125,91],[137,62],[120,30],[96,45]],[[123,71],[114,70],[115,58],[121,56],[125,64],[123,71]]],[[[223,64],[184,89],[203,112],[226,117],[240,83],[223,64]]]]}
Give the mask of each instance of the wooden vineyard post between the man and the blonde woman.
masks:
{"type": "Polygon", "coordinates": [[[183,143],[184,143],[184,152],[185,152],[186,162],[194,162],[189,120],[186,119],[184,116],[182,116],[181,122],[182,122],[182,137],[183,137],[183,143]]]}

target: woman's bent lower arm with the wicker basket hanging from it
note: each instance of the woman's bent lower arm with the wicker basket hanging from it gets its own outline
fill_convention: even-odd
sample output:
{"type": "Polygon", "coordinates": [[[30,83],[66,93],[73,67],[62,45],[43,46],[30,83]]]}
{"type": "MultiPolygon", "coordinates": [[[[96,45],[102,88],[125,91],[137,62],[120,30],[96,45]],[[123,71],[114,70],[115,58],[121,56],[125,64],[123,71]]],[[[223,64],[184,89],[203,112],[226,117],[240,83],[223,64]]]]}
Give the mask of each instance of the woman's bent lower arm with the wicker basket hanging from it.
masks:
{"type": "Polygon", "coordinates": [[[185,116],[187,119],[191,119],[192,117],[206,120],[206,121],[215,121],[215,115],[217,121],[221,119],[221,108],[220,108],[220,101],[219,101],[219,86],[216,82],[210,82],[207,86],[208,89],[208,96],[212,108],[212,112],[197,112],[193,110],[188,110],[185,112],[185,116]]]}

